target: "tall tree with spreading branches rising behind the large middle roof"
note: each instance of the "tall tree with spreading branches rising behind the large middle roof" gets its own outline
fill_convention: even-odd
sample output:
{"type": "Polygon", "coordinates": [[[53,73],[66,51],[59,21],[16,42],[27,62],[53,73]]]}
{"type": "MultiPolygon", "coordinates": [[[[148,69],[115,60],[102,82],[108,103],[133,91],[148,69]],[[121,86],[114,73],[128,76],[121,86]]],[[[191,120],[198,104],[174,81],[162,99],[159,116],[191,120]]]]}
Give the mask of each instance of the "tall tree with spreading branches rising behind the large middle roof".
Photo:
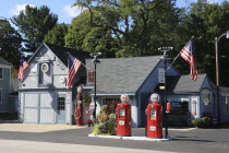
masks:
{"type": "MultiPolygon", "coordinates": [[[[174,0],[76,0],[75,5],[88,9],[91,27],[111,32],[119,45],[119,52],[116,54],[118,57],[155,55],[149,52],[152,49],[149,40],[155,25],[154,21],[157,22],[160,14],[158,13],[154,19],[153,13],[159,7],[168,12],[176,10],[174,0]],[[96,22],[98,17],[100,22],[96,22]]],[[[170,20],[169,23],[171,23],[173,20],[171,16],[160,22],[166,23],[170,20]]],[[[174,21],[177,22],[177,19],[174,21]]]]}

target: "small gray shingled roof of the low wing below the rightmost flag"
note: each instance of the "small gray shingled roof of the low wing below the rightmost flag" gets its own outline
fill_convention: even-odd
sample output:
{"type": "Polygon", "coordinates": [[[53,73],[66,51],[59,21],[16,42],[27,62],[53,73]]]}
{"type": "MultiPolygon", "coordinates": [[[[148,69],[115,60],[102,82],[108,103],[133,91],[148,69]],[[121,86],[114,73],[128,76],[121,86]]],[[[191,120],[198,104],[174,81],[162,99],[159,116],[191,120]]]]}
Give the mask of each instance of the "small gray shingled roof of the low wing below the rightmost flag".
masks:
{"type": "Polygon", "coordinates": [[[191,80],[189,74],[181,75],[173,92],[200,92],[206,75],[205,73],[198,74],[197,81],[191,80]]]}

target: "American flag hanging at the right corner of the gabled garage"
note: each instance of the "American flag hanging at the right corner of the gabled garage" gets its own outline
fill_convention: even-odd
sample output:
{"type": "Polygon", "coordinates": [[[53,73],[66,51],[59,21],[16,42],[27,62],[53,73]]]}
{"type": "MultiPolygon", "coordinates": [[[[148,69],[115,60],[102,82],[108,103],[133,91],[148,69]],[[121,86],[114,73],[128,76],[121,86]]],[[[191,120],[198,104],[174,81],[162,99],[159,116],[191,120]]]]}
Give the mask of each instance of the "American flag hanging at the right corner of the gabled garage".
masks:
{"type": "Polygon", "coordinates": [[[69,55],[68,59],[68,76],[67,76],[67,89],[69,90],[74,81],[75,74],[77,73],[79,68],[82,62],[69,55]]]}

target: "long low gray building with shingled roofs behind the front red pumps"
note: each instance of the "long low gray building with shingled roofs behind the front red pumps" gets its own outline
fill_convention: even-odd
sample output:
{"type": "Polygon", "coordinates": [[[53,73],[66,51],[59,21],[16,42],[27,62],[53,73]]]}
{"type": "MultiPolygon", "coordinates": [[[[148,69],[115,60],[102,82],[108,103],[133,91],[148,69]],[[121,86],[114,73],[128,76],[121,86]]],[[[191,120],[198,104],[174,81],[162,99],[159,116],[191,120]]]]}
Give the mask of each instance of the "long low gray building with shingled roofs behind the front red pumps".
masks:
{"type": "MultiPolygon", "coordinates": [[[[145,126],[145,109],[150,103],[152,93],[158,93],[164,99],[165,92],[159,90],[158,73],[165,68],[159,56],[99,59],[97,64],[97,103],[98,107],[108,103],[120,102],[120,95],[130,96],[132,127],[145,126]]],[[[170,64],[166,61],[166,67],[170,64]]],[[[88,68],[94,68],[86,60],[88,68]]],[[[91,84],[87,82],[87,86],[91,84]]],[[[229,121],[228,94],[221,97],[221,121],[229,121]]],[[[91,93],[94,96],[94,91],[91,93]]],[[[173,67],[167,71],[167,101],[171,104],[169,120],[189,123],[194,118],[208,116],[218,118],[216,87],[206,74],[198,74],[193,81],[189,75],[181,75],[173,67]]],[[[97,111],[98,113],[98,111],[97,111]]]]}

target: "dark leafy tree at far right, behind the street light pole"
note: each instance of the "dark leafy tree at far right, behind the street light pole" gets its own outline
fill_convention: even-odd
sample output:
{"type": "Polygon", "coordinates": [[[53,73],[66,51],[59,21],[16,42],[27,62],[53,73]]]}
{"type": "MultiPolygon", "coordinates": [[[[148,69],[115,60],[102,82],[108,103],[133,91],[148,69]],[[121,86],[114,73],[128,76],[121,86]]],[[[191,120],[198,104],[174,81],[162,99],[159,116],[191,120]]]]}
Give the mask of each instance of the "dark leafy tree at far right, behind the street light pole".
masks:
{"type": "MultiPolygon", "coordinates": [[[[195,36],[195,57],[198,73],[207,73],[215,81],[215,37],[229,30],[229,3],[206,3],[198,0],[191,4],[190,12],[183,20],[184,35],[195,36]]],[[[185,44],[184,44],[185,45],[185,44]]],[[[219,42],[219,73],[221,85],[229,86],[229,40],[225,37],[219,42]],[[222,75],[224,74],[224,75],[222,75]]]]}

